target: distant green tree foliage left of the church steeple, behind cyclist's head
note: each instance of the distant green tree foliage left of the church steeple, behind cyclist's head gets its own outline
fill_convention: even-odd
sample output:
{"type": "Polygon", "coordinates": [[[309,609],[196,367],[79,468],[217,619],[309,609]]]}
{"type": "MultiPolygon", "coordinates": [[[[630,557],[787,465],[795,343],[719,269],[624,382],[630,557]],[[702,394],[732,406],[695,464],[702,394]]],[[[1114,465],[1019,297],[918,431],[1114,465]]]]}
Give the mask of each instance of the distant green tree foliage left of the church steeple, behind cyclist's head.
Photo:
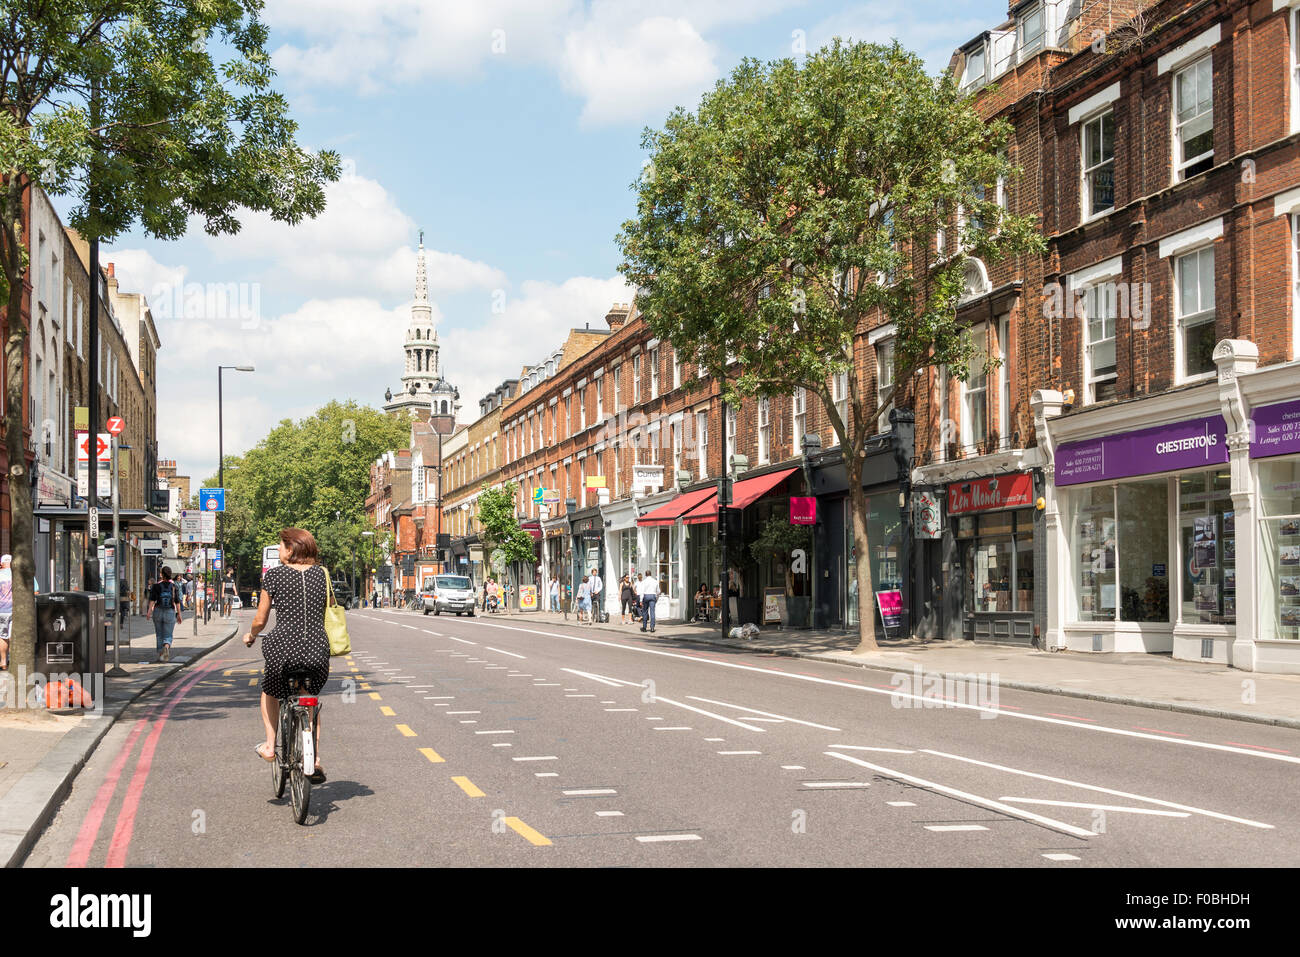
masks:
{"type": "MultiPolygon", "coordinates": [[[[280,529],[306,528],[320,546],[321,563],[351,576],[382,557],[386,538],[370,544],[361,532],[370,464],[390,449],[404,449],[411,424],[355,402],[330,402],[300,421],[285,419],[244,455],[226,456],[226,549],[240,581],[260,570],[261,549],[280,529]]],[[[204,481],[217,484],[216,476],[204,481]]]]}

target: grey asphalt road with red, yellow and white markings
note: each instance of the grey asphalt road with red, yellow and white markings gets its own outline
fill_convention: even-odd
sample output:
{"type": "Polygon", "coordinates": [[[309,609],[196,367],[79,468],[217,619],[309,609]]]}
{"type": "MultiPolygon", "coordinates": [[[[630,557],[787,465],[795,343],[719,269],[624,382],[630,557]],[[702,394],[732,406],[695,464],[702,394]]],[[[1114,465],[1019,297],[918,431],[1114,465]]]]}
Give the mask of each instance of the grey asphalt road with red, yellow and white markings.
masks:
{"type": "Polygon", "coordinates": [[[1290,866],[1300,732],[526,616],[363,610],[307,826],[260,645],[136,702],[27,866],[1290,866]],[[953,701],[952,698],[957,698],[953,701]]]}

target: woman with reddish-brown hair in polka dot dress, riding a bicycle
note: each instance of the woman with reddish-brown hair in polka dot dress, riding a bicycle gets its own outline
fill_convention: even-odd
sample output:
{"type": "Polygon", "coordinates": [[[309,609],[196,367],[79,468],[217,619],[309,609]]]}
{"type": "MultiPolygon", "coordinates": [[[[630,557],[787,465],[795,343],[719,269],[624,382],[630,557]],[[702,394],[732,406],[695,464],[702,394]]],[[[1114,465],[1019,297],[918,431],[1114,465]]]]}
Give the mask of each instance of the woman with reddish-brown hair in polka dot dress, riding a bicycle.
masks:
{"type": "MultiPolygon", "coordinates": [[[[316,538],[302,528],[280,532],[280,564],[266,570],[261,579],[257,614],[244,635],[252,648],[257,633],[266,627],[270,610],[276,609],[276,627],[261,642],[264,659],[261,680],[261,723],[266,732],[264,744],[256,746],[264,761],[276,759],[276,723],[281,702],[290,697],[286,674],[306,670],[307,694],[320,694],[329,680],[329,636],[325,633],[325,605],[329,601],[328,575],[317,562],[316,538]]],[[[325,781],[320,762],[320,715],[316,718],[316,772],[312,784],[325,781]]]]}

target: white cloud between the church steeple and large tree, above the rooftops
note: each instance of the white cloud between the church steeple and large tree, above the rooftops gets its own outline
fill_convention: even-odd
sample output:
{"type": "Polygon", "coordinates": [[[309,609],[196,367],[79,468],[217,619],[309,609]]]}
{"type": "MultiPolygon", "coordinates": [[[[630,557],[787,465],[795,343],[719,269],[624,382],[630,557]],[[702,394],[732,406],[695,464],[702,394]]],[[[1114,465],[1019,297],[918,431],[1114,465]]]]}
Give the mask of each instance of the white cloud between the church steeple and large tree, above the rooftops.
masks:
{"type": "Polygon", "coordinates": [[[441,333],[443,374],[460,389],[462,421],[477,419],[478,399],[550,355],[571,329],[608,329],[610,306],[632,302],[632,291],[621,277],[529,281],[517,298],[508,298],[500,312],[489,311],[474,328],[441,333]]]}

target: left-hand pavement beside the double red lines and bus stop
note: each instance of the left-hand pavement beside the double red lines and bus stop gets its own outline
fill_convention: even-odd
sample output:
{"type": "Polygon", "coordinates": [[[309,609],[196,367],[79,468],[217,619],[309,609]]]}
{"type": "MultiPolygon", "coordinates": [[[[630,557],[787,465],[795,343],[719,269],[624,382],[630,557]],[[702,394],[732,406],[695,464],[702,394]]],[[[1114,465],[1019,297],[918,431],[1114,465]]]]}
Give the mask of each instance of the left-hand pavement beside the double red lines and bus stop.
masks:
{"type": "MultiPolygon", "coordinates": [[[[0,711],[0,866],[14,867],[55,815],[100,739],[138,697],[235,635],[234,619],[199,622],[186,614],[172,636],[172,659],[159,663],[150,619],[131,615],[122,629],[120,661],[126,677],[105,681],[103,707],[68,715],[0,711]]],[[[112,667],[112,649],[107,653],[112,667]]],[[[12,680],[0,672],[0,683],[12,680]]],[[[8,690],[8,688],[5,688],[8,690]]],[[[8,698],[8,694],[5,694],[8,698]]]]}

